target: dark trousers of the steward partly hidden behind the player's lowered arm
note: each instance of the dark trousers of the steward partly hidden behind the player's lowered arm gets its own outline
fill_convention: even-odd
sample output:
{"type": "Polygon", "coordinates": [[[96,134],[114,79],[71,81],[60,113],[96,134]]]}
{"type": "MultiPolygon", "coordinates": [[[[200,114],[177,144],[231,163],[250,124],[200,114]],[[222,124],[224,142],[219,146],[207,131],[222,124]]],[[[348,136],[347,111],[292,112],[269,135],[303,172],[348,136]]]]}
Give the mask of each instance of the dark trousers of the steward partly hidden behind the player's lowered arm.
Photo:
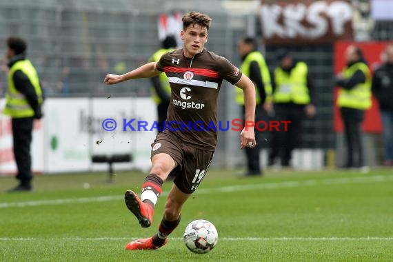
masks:
{"type": "MultiPolygon", "coordinates": [[[[262,120],[262,105],[256,105],[255,108],[255,123],[262,120]]],[[[245,107],[243,106],[243,116],[245,115],[245,107]]],[[[244,121],[245,119],[243,119],[244,121]]],[[[247,169],[250,173],[261,173],[261,163],[259,161],[259,150],[261,149],[261,143],[259,141],[259,131],[254,128],[256,146],[254,148],[244,148],[245,157],[247,158],[247,169]]]]}

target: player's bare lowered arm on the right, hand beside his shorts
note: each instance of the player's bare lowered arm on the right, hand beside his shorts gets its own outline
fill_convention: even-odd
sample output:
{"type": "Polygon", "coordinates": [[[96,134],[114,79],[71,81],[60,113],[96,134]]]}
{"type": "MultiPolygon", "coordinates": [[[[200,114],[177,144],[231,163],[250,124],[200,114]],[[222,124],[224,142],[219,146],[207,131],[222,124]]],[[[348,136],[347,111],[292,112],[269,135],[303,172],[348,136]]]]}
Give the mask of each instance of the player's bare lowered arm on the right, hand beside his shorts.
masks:
{"type": "Polygon", "coordinates": [[[252,81],[244,74],[236,86],[243,89],[244,107],[245,107],[245,128],[240,133],[240,148],[246,146],[254,147],[256,145],[254,124],[255,124],[255,86],[252,81]]]}

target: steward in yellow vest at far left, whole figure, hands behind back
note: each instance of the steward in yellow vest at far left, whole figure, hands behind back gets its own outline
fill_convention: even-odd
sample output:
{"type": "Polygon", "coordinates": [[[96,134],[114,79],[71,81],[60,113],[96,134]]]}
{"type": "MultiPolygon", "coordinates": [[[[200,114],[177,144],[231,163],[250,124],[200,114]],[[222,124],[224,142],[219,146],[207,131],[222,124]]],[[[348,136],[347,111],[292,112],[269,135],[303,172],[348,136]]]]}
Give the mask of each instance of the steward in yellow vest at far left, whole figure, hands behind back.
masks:
{"type": "Polygon", "coordinates": [[[12,119],[14,159],[17,163],[19,185],[10,192],[32,190],[30,144],[34,119],[41,119],[43,95],[37,71],[26,59],[26,41],[19,37],[7,39],[9,59],[6,108],[3,114],[12,119]]]}

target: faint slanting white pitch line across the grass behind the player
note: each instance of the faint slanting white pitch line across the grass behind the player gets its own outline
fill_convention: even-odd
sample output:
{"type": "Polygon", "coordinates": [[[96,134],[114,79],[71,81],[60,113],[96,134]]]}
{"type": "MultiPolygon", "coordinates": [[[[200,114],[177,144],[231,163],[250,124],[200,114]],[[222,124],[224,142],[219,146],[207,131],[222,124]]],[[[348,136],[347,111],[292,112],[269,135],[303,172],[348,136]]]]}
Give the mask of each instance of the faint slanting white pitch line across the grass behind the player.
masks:
{"type": "MultiPolygon", "coordinates": [[[[211,194],[214,193],[227,193],[227,192],[239,192],[245,190],[259,190],[259,189],[270,189],[274,190],[277,188],[299,188],[302,186],[314,186],[314,185],[334,185],[344,183],[368,183],[368,182],[385,182],[393,181],[393,175],[389,176],[370,176],[370,177],[343,177],[337,179],[309,179],[305,181],[285,181],[285,182],[272,182],[272,183],[259,183],[259,184],[247,184],[247,185],[230,185],[221,188],[201,188],[196,190],[195,194],[211,194]]],[[[168,192],[163,192],[161,196],[167,196],[168,192]]],[[[106,202],[106,201],[119,201],[123,199],[123,196],[91,196],[81,197],[74,199],[48,199],[48,200],[37,200],[37,201],[23,201],[23,202],[8,202],[0,203],[0,208],[24,208],[29,206],[39,205],[63,205],[69,203],[94,203],[94,202],[106,202]]]]}

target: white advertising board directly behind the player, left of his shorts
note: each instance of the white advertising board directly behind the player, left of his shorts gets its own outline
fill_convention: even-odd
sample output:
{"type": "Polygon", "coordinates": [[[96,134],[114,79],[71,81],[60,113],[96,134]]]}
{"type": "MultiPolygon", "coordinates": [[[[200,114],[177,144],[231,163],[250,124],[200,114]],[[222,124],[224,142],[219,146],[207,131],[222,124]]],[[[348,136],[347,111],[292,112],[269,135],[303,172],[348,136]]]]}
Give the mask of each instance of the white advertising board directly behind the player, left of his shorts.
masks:
{"type": "MultiPolygon", "coordinates": [[[[92,154],[132,154],[130,163],[116,163],[116,169],[150,166],[150,143],[157,132],[138,131],[138,121],[152,123],[156,119],[155,105],[151,99],[94,99],[92,100],[92,154]],[[130,127],[127,127],[127,124],[130,127]],[[105,130],[106,129],[106,130],[105,130]],[[134,130],[135,131],[134,131],[134,130]]],[[[94,170],[108,168],[94,164],[94,170]]]]}

